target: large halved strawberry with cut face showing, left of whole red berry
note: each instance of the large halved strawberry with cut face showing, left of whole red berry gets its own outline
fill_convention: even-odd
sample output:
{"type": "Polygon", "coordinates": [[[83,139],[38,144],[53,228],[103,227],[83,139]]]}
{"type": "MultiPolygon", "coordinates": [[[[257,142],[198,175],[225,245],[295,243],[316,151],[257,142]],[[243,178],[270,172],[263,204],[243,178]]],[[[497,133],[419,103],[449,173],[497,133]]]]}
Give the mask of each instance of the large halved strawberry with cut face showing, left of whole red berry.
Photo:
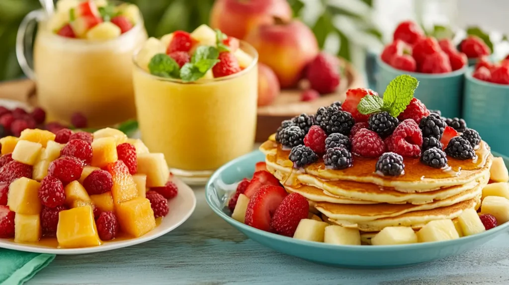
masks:
{"type": "Polygon", "coordinates": [[[252,195],[247,204],[245,224],[271,232],[270,220],[287,193],[281,186],[265,185],[252,195]]]}

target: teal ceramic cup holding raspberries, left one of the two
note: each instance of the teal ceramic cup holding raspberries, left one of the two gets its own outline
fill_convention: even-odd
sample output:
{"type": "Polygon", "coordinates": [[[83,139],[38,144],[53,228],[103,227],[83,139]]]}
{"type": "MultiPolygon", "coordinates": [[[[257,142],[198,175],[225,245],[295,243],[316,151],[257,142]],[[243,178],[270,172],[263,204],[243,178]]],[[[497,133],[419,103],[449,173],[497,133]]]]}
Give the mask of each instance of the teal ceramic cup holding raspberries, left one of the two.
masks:
{"type": "Polygon", "coordinates": [[[442,116],[461,117],[463,98],[463,74],[466,68],[443,74],[427,74],[397,70],[377,57],[376,91],[382,96],[385,87],[395,77],[408,74],[419,80],[414,97],[422,101],[430,110],[440,110],[442,116]]]}

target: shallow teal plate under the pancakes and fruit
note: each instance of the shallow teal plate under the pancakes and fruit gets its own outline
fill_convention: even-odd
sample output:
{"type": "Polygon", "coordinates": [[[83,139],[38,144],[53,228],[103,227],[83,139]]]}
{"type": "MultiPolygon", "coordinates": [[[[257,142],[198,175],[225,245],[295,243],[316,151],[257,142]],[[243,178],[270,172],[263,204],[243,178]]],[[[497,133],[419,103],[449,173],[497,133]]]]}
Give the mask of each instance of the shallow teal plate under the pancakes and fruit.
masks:
{"type": "MultiPolygon", "coordinates": [[[[494,154],[495,156],[500,156],[494,154]]],[[[260,151],[254,151],[219,168],[210,178],[205,188],[205,198],[212,210],[221,218],[257,241],[283,254],[295,256],[310,262],[346,268],[395,268],[459,255],[493,239],[507,231],[509,223],[484,233],[462,237],[456,240],[415,243],[407,245],[333,245],[321,242],[303,241],[286,236],[261,231],[246,226],[230,217],[230,210],[224,207],[230,194],[235,191],[232,185],[245,177],[251,177],[254,164],[264,161],[260,151]]],[[[504,157],[506,165],[509,159],[504,157]]]]}

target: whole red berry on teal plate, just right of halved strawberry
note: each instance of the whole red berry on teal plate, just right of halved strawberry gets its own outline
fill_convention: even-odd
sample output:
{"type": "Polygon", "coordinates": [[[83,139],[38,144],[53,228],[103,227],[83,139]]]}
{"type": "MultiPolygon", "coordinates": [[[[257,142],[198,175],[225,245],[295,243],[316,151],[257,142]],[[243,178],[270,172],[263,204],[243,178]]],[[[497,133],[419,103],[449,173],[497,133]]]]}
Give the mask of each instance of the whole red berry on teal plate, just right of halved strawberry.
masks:
{"type": "Polygon", "coordinates": [[[309,202],[304,196],[292,193],[277,206],[270,221],[270,227],[276,233],[293,237],[301,219],[307,218],[309,202]]]}

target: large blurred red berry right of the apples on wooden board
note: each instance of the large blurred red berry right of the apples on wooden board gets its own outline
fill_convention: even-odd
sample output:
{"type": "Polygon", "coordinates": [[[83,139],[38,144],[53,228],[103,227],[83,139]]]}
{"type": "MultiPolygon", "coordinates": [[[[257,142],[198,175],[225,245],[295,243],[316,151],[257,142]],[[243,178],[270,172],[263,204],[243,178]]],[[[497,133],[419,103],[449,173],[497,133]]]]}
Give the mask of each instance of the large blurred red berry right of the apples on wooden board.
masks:
{"type": "Polygon", "coordinates": [[[306,68],[311,88],[321,94],[332,93],[340,85],[339,62],[336,57],[321,52],[306,68]]]}

